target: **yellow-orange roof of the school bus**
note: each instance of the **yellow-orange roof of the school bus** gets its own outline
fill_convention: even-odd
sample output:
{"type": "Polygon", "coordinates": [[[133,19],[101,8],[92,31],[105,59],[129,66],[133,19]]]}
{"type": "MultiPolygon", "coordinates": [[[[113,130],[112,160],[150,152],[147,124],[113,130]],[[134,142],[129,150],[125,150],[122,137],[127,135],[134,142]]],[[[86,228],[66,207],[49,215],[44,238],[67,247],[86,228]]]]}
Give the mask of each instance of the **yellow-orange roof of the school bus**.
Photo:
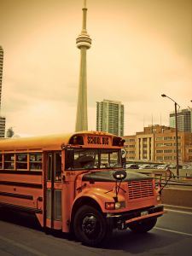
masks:
{"type": "Polygon", "coordinates": [[[6,138],[0,140],[0,151],[15,150],[61,150],[62,145],[69,144],[74,135],[106,135],[116,137],[113,134],[102,131],[79,131],[68,134],[55,134],[41,137],[6,138]]]}

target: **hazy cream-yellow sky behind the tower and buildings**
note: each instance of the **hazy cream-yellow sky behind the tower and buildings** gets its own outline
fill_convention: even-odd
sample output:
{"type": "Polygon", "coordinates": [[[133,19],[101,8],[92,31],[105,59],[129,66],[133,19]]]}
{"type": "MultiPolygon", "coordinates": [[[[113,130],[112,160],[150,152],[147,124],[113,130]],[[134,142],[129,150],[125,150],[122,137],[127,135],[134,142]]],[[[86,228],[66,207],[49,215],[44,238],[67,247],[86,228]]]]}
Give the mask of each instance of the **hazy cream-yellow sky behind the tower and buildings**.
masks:
{"type": "MultiPolygon", "coordinates": [[[[1,114],[20,136],[75,130],[83,0],[0,0],[1,114]]],[[[192,107],[192,1],[87,0],[88,126],[96,102],[125,105],[125,135],[192,107]]]]}

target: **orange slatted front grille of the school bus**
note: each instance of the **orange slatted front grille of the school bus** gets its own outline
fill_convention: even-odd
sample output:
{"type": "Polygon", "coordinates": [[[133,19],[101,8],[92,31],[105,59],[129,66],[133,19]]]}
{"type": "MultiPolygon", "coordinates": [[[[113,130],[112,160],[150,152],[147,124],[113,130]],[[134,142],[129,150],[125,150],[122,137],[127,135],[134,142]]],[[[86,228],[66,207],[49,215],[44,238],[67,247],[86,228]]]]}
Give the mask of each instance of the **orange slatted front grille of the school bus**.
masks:
{"type": "Polygon", "coordinates": [[[129,200],[149,197],[154,195],[153,180],[140,180],[128,182],[129,200]]]}

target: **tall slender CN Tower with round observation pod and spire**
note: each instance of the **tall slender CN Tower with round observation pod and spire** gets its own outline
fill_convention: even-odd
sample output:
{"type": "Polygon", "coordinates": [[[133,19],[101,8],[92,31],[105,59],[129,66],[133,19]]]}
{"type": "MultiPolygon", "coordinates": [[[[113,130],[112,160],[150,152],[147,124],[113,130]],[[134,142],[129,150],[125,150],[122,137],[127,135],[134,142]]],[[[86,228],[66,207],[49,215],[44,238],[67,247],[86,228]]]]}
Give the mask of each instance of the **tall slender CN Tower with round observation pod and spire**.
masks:
{"type": "Polygon", "coordinates": [[[91,38],[86,29],[87,8],[86,0],[83,7],[82,31],[76,39],[77,47],[80,49],[80,73],[79,73],[79,96],[76,116],[75,131],[87,131],[87,72],[86,72],[86,51],[90,49],[91,38]]]}

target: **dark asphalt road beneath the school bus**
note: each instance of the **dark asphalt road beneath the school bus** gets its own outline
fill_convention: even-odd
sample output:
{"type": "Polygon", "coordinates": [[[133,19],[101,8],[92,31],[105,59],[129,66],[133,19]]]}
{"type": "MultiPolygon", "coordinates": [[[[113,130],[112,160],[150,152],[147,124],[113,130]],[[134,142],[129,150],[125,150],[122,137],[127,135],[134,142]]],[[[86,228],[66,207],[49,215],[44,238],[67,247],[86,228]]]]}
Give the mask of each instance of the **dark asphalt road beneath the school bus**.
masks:
{"type": "Polygon", "coordinates": [[[0,210],[0,255],[192,255],[192,209],[166,208],[154,230],[145,235],[114,231],[111,240],[98,248],[85,247],[66,234],[45,234],[33,218],[0,210]]]}

